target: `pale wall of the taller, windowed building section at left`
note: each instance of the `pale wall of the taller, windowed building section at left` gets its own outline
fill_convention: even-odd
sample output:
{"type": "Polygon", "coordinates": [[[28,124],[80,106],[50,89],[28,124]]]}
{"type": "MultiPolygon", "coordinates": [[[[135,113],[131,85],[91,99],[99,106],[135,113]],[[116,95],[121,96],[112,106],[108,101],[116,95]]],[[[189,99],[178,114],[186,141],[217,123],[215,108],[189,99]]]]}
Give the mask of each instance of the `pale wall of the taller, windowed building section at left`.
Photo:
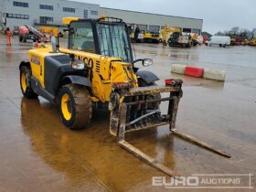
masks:
{"type": "Polygon", "coordinates": [[[5,10],[2,11],[3,13],[29,16],[29,19],[10,18],[6,16],[5,27],[10,27],[11,29],[15,29],[20,25],[35,26],[36,24],[37,27],[40,23],[40,16],[53,17],[53,21],[48,21],[48,24],[62,26],[63,17],[78,16],[84,18],[84,10],[88,11],[89,18],[98,18],[100,9],[100,5],[70,2],[66,0],[0,0],[0,5],[5,5],[5,10]],[[14,1],[28,3],[28,7],[14,6],[14,1]],[[52,5],[53,10],[40,9],[39,5],[52,5]],[[64,12],[63,7],[75,8],[75,13],[64,12]],[[91,11],[94,12],[93,15],[91,11]]]}

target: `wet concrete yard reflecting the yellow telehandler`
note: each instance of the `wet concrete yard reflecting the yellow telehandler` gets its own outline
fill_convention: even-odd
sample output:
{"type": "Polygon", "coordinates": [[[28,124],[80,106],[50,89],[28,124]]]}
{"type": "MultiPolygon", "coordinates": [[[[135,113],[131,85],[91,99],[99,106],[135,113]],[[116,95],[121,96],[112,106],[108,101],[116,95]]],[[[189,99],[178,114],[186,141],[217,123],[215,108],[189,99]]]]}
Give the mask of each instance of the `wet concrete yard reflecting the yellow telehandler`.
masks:
{"type": "MultiPolygon", "coordinates": [[[[58,109],[48,101],[22,97],[18,65],[27,59],[29,48],[31,43],[18,44],[17,38],[11,48],[6,47],[0,37],[0,191],[164,190],[152,186],[152,176],[164,174],[117,145],[109,133],[108,112],[94,112],[91,126],[74,132],[60,122],[58,109]]],[[[180,176],[255,175],[256,48],[138,44],[135,51],[137,58],[155,60],[147,69],[160,77],[158,84],[168,78],[184,80],[177,128],[232,157],[212,154],[169,135],[167,126],[131,133],[129,143],[180,176]],[[224,69],[226,82],[170,74],[172,63],[224,69]]]]}

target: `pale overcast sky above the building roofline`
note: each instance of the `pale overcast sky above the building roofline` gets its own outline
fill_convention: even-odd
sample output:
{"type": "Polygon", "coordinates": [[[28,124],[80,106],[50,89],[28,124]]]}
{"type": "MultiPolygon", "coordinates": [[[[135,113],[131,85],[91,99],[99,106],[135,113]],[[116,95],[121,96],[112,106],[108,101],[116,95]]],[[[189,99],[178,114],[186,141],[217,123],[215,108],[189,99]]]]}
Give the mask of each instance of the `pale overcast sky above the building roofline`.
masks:
{"type": "Polygon", "coordinates": [[[256,27],[256,0],[76,0],[103,7],[204,19],[203,31],[256,27]]]}

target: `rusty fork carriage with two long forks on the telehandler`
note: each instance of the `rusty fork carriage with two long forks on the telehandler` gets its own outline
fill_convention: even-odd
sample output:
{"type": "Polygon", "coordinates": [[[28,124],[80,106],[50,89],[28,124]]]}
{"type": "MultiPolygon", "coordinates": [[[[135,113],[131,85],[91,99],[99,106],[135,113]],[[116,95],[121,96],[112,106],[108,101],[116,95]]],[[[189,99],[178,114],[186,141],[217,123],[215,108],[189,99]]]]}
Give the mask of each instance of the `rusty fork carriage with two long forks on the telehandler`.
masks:
{"type": "Polygon", "coordinates": [[[129,84],[113,85],[112,97],[109,104],[111,111],[110,133],[117,137],[117,142],[125,150],[149,165],[164,172],[168,176],[176,176],[175,172],[165,165],[158,163],[154,158],[145,155],[132,144],[125,141],[125,133],[155,128],[169,124],[170,132],[192,144],[197,144],[218,155],[230,157],[214,146],[207,144],[187,133],[176,130],[176,112],[178,103],[182,97],[182,80],[165,80],[165,86],[146,88],[130,88],[129,84]],[[165,98],[150,98],[150,95],[169,93],[165,98]],[[168,101],[167,113],[162,114],[159,104],[168,101]],[[149,109],[149,105],[155,104],[155,109],[149,109]]]}

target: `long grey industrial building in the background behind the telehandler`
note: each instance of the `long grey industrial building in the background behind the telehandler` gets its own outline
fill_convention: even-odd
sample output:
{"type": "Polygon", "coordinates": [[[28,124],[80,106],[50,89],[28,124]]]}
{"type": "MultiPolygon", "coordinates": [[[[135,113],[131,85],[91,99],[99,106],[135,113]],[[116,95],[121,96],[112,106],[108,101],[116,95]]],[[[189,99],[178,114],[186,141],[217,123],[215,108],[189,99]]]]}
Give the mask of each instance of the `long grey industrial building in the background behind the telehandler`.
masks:
{"type": "Polygon", "coordinates": [[[67,0],[0,0],[0,5],[2,29],[10,27],[16,30],[20,25],[64,27],[62,17],[97,18],[100,15],[122,18],[126,23],[138,25],[141,30],[159,31],[168,24],[170,27],[180,27],[184,32],[200,33],[203,26],[203,20],[197,18],[112,9],[67,0]]]}

